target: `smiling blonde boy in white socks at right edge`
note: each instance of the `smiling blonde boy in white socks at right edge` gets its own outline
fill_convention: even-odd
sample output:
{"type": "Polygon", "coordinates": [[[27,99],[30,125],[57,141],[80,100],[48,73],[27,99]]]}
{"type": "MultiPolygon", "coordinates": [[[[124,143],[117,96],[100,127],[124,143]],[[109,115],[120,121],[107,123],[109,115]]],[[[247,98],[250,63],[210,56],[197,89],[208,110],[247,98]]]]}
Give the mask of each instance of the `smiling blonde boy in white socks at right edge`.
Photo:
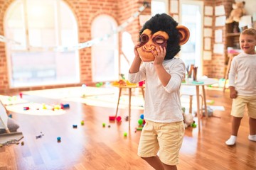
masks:
{"type": "Polygon", "coordinates": [[[234,57],[228,76],[233,119],[231,136],[226,145],[235,145],[245,106],[250,125],[248,139],[256,142],[256,30],[249,28],[242,31],[239,41],[242,52],[234,57]]]}

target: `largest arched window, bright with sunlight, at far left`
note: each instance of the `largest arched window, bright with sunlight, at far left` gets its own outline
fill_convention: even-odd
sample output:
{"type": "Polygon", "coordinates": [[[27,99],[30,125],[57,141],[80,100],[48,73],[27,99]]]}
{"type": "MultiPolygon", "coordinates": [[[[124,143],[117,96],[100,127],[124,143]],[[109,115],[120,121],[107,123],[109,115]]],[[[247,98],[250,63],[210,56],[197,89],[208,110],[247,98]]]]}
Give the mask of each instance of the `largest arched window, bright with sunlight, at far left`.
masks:
{"type": "Polygon", "coordinates": [[[61,0],[22,0],[9,7],[5,36],[11,87],[73,84],[80,81],[78,51],[55,50],[78,44],[75,17],[61,0]]]}

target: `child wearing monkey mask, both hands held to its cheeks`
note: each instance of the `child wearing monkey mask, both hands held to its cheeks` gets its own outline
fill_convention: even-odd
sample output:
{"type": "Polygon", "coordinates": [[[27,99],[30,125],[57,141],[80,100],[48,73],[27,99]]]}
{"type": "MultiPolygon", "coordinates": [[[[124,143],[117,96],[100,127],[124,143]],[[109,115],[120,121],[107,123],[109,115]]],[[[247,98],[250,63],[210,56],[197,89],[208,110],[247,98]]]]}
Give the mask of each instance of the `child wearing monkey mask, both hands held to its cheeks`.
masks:
{"type": "Polygon", "coordinates": [[[145,81],[144,119],[138,155],[154,169],[177,169],[184,135],[180,86],[185,64],[175,57],[189,31],[166,13],[156,14],[139,32],[129,81],[145,81]],[[158,153],[159,152],[159,156],[158,153]]]}

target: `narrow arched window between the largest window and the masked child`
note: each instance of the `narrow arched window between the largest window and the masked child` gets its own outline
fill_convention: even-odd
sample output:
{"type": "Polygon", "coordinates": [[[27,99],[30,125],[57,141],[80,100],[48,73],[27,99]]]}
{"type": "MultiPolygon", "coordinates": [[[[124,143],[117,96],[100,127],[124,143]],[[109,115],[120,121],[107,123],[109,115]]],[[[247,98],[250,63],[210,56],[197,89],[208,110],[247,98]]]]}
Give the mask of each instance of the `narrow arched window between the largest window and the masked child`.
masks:
{"type": "Polygon", "coordinates": [[[115,81],[118,79],[118,36],[114,18],[100,15],[92,22],[92,40],[102,38],[92,45],[92,81],[115,81]],[[104,29],[102,29],[104,28],[104,29]]]}

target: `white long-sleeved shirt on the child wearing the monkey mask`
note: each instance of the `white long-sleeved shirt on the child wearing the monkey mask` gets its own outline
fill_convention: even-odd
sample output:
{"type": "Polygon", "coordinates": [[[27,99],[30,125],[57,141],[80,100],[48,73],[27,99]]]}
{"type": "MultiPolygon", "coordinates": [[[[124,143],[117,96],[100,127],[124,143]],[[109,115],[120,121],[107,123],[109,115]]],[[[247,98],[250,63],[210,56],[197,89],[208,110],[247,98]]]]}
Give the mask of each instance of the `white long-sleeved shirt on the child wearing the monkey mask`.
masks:
{"type": "Polygon", "coordinates": [[[186,74],[185,64],[178,58],[164,60],[164,68],[171,74],[166,86],[161,84],[153,62],[143,62],[139,72],[128,74],[132,83],[145,80],[144,119],[159,123],[174,123],[183,120],[180,87],[186,74]]]}

